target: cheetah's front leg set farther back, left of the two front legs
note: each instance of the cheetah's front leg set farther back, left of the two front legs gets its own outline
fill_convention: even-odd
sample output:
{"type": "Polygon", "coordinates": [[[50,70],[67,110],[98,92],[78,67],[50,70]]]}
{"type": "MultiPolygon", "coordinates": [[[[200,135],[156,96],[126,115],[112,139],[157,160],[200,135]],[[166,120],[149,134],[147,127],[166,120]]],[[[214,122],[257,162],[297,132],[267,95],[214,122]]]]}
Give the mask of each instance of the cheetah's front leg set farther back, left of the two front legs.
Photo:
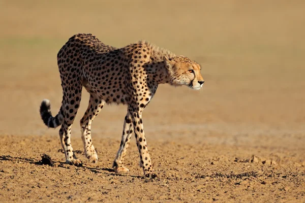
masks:
{"type": "Polygon", "coordinates": [[[127,112],[124,120],[121,143],[112,166],[115,173],[129,172],[128,168],[124,166],[124,158],[130,143],[131,134],[132,134],[132,119],[130,113],[127,112]]]}

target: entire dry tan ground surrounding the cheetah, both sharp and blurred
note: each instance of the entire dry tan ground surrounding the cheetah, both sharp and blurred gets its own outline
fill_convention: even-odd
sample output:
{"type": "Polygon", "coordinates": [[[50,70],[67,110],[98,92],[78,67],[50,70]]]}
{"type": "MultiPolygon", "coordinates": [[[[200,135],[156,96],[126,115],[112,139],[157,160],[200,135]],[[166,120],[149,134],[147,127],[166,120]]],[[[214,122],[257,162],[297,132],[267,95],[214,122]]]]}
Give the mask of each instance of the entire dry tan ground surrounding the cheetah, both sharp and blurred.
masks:
{"type": "Polygon", "coordinates": [[[305,202],[303,1],[0,1],[1,202],[305,202]],[[83,154],[78,121],[65,164],[55,114],[57,51],[75,33],[122,47],[146,39],[202,65],[201,91],[160,85],[143,113],[157,179],[142,179],[135,139],[116,175],[126,107],[106,106],[83,154]]]}

